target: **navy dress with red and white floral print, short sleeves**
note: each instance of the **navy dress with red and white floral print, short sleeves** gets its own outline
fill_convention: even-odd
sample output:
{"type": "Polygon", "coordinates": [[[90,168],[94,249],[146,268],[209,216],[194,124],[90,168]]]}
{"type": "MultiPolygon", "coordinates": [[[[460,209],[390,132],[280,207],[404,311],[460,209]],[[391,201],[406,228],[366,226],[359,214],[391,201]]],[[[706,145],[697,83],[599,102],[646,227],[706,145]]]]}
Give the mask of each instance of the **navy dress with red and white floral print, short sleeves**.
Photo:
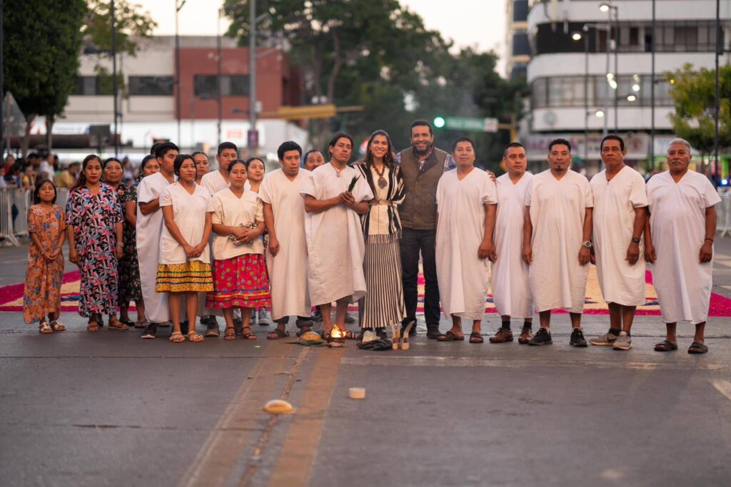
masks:
{"type": "Polygon", "coordinates": [[[110,315],[117,310],[115,225],[122,221],[117,193],[102,183],[99,193],[75,189],[66,205],[66,222],[74,226],[74,242],[81,271],[79,314],[110,315]]]}

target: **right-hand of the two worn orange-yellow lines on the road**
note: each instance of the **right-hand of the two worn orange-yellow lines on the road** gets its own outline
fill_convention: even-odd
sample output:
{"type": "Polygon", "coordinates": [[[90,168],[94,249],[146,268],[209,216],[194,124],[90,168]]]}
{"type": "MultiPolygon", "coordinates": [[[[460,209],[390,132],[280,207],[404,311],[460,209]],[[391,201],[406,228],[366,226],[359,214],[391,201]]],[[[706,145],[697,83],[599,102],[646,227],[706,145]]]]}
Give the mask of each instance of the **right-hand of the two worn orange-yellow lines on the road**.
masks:
{"type": "Polygon", "coordinates": [[[344,349],[319,351],[302,402],[269,478],[269,487],[308,485],[344,349]]]}

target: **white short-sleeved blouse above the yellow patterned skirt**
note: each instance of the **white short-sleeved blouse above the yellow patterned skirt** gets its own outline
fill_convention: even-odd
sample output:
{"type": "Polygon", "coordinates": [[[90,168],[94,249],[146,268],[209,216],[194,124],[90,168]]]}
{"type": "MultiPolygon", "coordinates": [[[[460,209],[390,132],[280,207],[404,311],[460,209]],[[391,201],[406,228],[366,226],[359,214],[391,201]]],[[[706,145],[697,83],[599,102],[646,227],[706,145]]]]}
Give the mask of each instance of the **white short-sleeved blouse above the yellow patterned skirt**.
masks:
{"type": "MultiPolygon", "coordinates": [[[[211,193],[202,186],[195,185],[193,194],[188,193],[181,183],[173,183],[160,194],[160,207],[173,207],[173,221],[178,226],[188,245],[200,244],[205,233],[205,214],[213,212],[211,193]]],[[[198,257],[188,257],[183,245],[163,225],[160,239],[160,264],[185,264],[187,261],[202,261],[211,264],[211,250],[205,244],[198,257]]]]}

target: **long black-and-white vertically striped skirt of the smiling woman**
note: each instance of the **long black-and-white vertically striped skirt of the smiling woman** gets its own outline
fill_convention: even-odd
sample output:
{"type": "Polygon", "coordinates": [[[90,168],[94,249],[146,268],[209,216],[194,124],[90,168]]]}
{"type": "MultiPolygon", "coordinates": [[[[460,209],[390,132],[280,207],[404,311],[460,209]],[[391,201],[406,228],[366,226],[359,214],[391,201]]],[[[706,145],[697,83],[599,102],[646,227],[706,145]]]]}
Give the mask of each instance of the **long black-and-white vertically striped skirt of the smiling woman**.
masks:
{"type": "Polygon", "coordinates": [[[401,324],[406,316],[398,235],[368,235],[363,260],[368,293],[358,302],[360,326],[374,329],[401,324]]]}

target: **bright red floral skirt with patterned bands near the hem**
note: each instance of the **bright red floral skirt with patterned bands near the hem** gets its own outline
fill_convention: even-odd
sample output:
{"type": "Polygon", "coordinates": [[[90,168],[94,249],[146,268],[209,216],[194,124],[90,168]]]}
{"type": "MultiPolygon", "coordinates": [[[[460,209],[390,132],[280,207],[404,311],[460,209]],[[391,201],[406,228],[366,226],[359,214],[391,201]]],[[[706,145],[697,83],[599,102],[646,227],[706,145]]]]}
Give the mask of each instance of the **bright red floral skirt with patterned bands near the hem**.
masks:
{"type": "Polygon", "coordinates": [[[213,291],[205,296],[205,307],[268,306],[271,306],[271,294],[266,261],[262,254],[245,253],[243,256],[215,261],[213,291]]]}

